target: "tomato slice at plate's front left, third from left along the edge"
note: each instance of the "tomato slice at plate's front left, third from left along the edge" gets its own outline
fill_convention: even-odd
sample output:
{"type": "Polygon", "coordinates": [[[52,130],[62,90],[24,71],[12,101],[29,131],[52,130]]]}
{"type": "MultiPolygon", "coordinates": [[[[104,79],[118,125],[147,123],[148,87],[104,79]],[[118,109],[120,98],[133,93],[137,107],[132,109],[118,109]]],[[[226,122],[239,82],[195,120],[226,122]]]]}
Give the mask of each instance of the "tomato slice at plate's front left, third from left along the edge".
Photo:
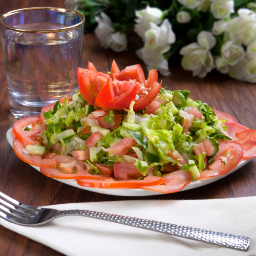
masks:
{"type": "Polygon", "coordinates": [[[92,167],[85,162],[74,159],[73,157],[65,155],[48,154],[46,158],[55,160],[57,165],[57,167],[55,168],[40,168],[41,173],[50,178],[113,180],[113,178],[106,175],[89,174],[88,170],[91,170],[92,167]]]}

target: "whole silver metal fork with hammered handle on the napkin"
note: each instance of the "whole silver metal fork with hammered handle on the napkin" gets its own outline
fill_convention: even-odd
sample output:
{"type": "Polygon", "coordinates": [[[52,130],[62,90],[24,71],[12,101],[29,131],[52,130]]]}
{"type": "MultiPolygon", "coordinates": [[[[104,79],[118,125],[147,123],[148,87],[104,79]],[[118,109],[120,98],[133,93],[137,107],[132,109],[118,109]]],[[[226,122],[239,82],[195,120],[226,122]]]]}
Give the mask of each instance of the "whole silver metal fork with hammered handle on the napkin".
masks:
{"type": "Polygon", "coordinates": [[[176,237],[187,238],[215,244],[231,249],[247,251],[250,239],[234,236],[233,234],[220,233],[200,228],[180,226],[160,221],[132,218],[115,214],[91,210],[56,210],[30,206],[20,203],[0,192],[0,217],[14,224],[23,226],[39,226],[62,216],[84,216],[104,221],[124,224],[160,233],[170,234],[176,237]]]}

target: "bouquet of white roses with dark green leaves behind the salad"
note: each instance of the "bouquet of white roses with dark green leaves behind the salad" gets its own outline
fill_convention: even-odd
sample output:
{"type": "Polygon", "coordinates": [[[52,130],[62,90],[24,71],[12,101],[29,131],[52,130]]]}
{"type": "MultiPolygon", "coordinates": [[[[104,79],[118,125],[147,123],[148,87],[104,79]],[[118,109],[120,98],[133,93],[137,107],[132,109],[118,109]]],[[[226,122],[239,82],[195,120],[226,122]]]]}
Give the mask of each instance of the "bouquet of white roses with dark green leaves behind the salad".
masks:
{"type": "Polygon", "coordinates": [[[147,69],[169,75],[180,63],[194,76],[213,69],[256,82],[256,1],[251,0],[66,0],[87,16],[104,48],[126,50],[135,32],[143,47],[136,54],[147,69]]]}

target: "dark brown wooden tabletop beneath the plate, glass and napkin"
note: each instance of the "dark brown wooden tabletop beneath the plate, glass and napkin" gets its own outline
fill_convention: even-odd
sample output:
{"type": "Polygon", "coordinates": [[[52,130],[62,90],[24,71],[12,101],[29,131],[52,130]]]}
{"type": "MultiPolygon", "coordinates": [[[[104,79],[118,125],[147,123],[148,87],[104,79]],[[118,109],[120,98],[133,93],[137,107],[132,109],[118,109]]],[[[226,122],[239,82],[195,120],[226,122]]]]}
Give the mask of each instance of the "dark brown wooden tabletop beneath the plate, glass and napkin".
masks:
{"type": "MultiPolygon", "coordinates": [[[[63,0],[0,0],[0,14],[8,11],[39,6],[64,7],[63,0]]],[[[134,50],[141,47],[137,37],[129,38],[127,52],[116,53],[104,50],[94,34],[84,34],[82,65],[88,60],[97,70],[108,72],[113,58],[121,69],[140,63],[144,72],[146,67],[136,56],[134,50]]],[[[250,129],[256,128],[256,85],[241,82],[217,73],[201,79],[193,77],[191,72],[181,67],[170,67],[172,75],[159,76],[163,86],[169,90],[186,89],[193,99],[200,99],[212,108],[226,112],[238,119],[238,122],[250,129]]],[[[31,205],[53,205],[75,202],[100,202],[117,200],[186,200],[249,197],[256,195],[256,160],[209,185],[175,194],[148,197],[119,197],[93,193],[83,189],[62,184],[37,172],[30,165],[16,157],[6,140],[6,132],[13,126],[15,119],[9,111],[7,82],[2,47],[0,48],[0,191],[8,196],[31,205]]],[[[30,240],[26,237],[0,226],[0,255],[62,255],[61,253],[30,240]]]]}

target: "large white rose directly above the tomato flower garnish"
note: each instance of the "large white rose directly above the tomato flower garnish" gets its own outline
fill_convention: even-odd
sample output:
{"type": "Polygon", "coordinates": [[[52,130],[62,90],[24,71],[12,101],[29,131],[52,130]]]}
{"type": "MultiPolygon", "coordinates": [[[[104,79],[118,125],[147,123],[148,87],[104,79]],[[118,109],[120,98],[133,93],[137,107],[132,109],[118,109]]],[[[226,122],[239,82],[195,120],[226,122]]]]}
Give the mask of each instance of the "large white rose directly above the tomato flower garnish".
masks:
{"type": "Polygon", "coordinates": [[[154,23],[145,33],[144,47],[136,51],[137,55],[146,63],[147,69],[156,68],[162,75],[169,75],[168,62],[163,54],[175,42],[175,34],[169,20],[165,19],[159,27],[154,23]]]}

